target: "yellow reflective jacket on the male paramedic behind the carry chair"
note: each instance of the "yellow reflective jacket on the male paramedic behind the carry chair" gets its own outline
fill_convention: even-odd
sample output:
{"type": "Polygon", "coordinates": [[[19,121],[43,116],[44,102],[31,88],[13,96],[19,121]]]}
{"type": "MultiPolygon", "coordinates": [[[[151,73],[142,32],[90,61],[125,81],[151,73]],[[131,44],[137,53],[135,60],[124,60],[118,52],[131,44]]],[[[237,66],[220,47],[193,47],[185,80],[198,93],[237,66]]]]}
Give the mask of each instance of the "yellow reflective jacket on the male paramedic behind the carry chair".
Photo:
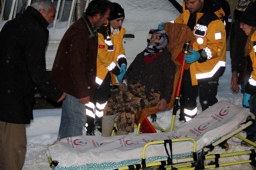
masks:
{"type": "MultiPolygon", "coordinates": [[[[200,12],[196,14],[196,25],[192,31],[196,37],[196,42],[193,44],[193,50],[204,50],[204,53],[207,53],[207,57],[205,61],[201,63],[198,61],[191,63],[190,74],[192,85],[199,84],[199,81],[211,80],[211,77],[219,70],[221,66],[224,67],[224,70],[226,67],[226,31],[225,25],[222,21],[222,15],[225,15],[225,13],[221,8],[214,12],[214,14],[200,12]],[[214,14],[216,14],[214,17],[217,17],[217,19],[212,20],[208,25],[201,25],[198,20],[205,14],[209,14],[212,17],[214,14]]],[[[187,24],[189,16],[189,10],[185,9],[185,2],[183,2],[183,13],[180,15],[180,17],[174,20],[174,22],[187,24]]]]}

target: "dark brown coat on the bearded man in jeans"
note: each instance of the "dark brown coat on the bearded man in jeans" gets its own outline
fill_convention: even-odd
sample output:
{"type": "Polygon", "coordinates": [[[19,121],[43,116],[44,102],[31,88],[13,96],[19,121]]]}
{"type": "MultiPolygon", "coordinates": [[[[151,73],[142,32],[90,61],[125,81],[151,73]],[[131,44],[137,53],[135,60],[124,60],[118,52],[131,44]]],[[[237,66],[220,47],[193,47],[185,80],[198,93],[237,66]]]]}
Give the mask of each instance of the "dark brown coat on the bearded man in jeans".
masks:
{"type": "Polygon", "coordinates": [[[97,71],[98,34],[83,14],[64,34],[51,78],[71,96],[93,99],[97,71]]]}

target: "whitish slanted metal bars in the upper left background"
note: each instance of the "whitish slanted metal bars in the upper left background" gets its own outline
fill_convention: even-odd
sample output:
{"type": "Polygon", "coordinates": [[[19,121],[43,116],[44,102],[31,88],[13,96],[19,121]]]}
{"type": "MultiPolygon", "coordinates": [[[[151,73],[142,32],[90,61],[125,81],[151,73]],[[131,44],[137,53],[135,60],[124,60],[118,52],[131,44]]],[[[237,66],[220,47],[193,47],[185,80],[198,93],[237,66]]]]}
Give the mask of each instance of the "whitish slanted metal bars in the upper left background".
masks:
{"type": "MultiPolygon", "coordinates": [[[[9,15],[9,18],[8,20],[11,20],[13,18],[16,17],[16,12],[17,12],[17,7],[18,7],[18,1],[19,0],[13,0],[12,2],[12,7],[11,7],[11,10],[10,10],[10,15],[9,15]]],[[[54,0],[51,0],[52,2],[54,0]]],[[[64,11],[64,6],[65,6],[65,2],[66,0],[58,0],[58,3],[57,3],[57,7],[56,7],[56,11],[55,11],[55,18],[54,18],[54,21],[53,21],[53,26],[52,26],[52,29],[55,29],[55,26],[56,26],[56,22],[57,22],[57,16],[59,14],[59,8],[60,8],[60,2],[62,1],[62,8],[60,10],[60,17],[59,17],[59,23],[61,22],[61,19],[62,19],[62,14],[63,14],[63,11],[64,11]]],[[[81,0],[81,1],[84,1],[84,0],[81,0]]],[[[74,17],[74,12],[75,12],[75,5],[77,5],[77,19],[79,19],[81,16],[80,16],[80,3],[77,3],[77,2],[80,2],[80,1],[77,1],[77,0],[72,0],[72,5],[71,5],[71,8],[70,8],[70,14],[69,14],[69,18],[68,18],[68,25],[67,25],[67,28],[70,27],[70,24],[72,23],[73,21],[73,17],[74,17]]],[[[1,15],[0,15],[0,24],[2,23],[2,20],[3,20],[3,14],[4,14],[4,9],[5,9],[5,4],[6,4],[6,0],[3,0],[3,5],[2,5],[2,8],[1,8],[1,15]]],[[[26,9],[27,7],[31,4],[31,0],[28,0],[27,1],[27,4],[26,4],[26,9]]],[[[87,8],[89,4],[89,0],[86,1],[86,7],[84,8],[84,11],[85,9],[87,8]]]]}

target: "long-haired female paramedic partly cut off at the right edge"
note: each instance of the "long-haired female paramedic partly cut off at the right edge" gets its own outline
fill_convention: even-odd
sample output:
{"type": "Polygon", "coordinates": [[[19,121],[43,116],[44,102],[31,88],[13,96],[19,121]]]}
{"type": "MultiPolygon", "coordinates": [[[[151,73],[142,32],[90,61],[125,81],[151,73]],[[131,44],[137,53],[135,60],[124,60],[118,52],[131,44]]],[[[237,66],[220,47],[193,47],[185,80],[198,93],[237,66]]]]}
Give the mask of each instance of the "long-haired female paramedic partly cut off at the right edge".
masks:
{"type": "MultiPolygon", "coordinates": [[[[246,107],[249,107],[249,100],[252,94],[256,92],[256,1],[244,10],[240,16],[241,25],[240,28],[248,35],[246,46],[245,46],[245,56],[250,55],[252,60],[253,71],[251,73],[250,79],[245,86],[245,93],[243,95],[243,104],[246,107]]],[[[256,100],[250,101],[250,104],[253,105],[254,110],[250,110],[255,114],[255,104],[256,100]]],[[[256,141],[256,122],[253,126],[250,126],[246,129],[247,136],[246,138],[251,141],[256,141]]],[[[246,146],[247,142],[241,142],[241,145],[246,146]]],[[[249,143],[248,143],[249,144],[249,143]]],[[[247,147],[249,147],[247,145],[247,147]]]]}

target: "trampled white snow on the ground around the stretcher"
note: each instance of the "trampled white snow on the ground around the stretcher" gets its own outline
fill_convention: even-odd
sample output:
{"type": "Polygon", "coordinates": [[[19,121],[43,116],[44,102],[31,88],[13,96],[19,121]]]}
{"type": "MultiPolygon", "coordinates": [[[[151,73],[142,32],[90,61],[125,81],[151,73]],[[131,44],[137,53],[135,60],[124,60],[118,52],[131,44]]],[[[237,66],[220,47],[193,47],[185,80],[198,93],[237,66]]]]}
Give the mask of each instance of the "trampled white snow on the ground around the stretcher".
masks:
{"type": "MultiPolygon", "coordinates": [[[[232,90],[230,89],[231,75],[232,75],[231,63],[230,63],[230,55],[228,51],[226,70],[224,75],[219,80],[220,85],[218,86],[217,99],[219,101],[225,100],[230,103],[236,104],[237,106],[242,107],[243,95],[241,94],[241,92],[233,93],[232,90]]],[[[197,99],[197,101],[198,101],[198,113],[200,113],[201,106],[199,103],[199,99],[197,99]]],[[[46,156],[46,148],[47,148],[46,145],[49,143],[53,143],[57,139],[59,124],[60,124],[60,117],[61,117],[61,109],[34,110],[33,113],[34,113],[34,120],[32,120],[29,125],[26,125],[27,152],[26,152],[26,158],[25,158],[23,169],[24,170],[35,170],[35,169],[50,170],[51,168],[49,166],[47,156],[46,156]]],[[[177,112],[177,115],[179,115],[179,110],[177,112]]],[[[172,119],[172,109],[165,112],[159,112],[157,113],[157,120],[155,124],[164,129],[169,129],[171,119],[172,119]]],[[[176,116],[174,128],[176,128],[181,123],[182,122],[178,120],[178,116],[176,116]]],[[[101,135],[101,133],[96,130],[95,135],[101,135]]],[[[245,137],[246,133],[241,132],[240,135],[245,137]]],[[[236,137],[232,137],[228,139],[230,148],[227,151],[221,149],[220,147],[216,147],[212,152],[209,152],[209,154],[237,152],[237,151],[244,151],[244,150],[249,150],[254,148],[254,147],[247,148],[247,147],[241,146],[240,142],[241,142],[240,139],[236,137]]],[[[222,161],[222,163],[235,162],[235,161],[241,161],[241,159],[248,160],[249,155],[234,156],[230,158],[220,158],[220,161],[222,161]]],[[[251,165],[247,163],[247,164],[219,167],[219,169],[231,169],[231,168],[237,169],[237,170],[251,169],[251,165]]]]}

